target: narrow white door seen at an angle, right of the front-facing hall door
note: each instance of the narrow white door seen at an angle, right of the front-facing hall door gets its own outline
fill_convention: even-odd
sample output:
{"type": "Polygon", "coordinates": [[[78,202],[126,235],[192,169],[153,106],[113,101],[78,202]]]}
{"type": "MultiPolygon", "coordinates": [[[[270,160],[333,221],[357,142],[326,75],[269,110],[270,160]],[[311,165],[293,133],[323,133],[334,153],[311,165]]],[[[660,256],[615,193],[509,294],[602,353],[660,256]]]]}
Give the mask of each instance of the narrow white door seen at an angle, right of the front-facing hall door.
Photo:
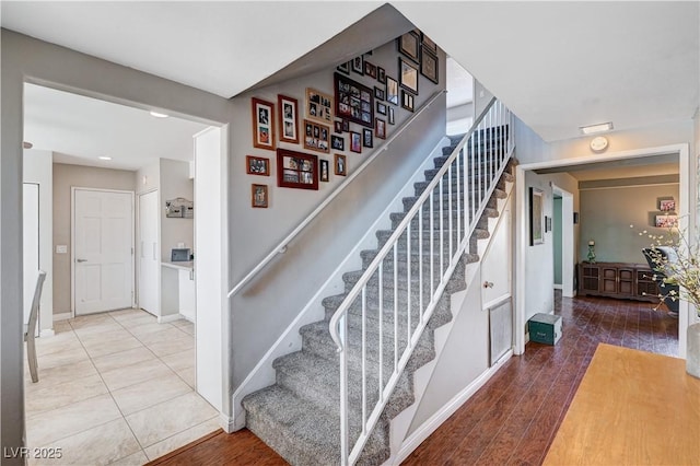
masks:
{"type": "Polygon", "coordinates": [[[139,307],[160,315],[161,245],[158,191],[139,196],[139,307]]]}

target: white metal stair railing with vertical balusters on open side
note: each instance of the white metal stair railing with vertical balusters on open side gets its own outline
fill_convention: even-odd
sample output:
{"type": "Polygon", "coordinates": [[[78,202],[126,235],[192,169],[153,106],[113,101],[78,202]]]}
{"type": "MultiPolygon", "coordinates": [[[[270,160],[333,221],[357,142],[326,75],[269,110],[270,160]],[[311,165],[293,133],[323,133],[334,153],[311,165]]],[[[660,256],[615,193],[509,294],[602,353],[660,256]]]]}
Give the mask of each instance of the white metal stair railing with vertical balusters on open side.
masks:
{"type": "Polygon", "coordinates": [[[493,98],[330,318],[340,358],[342,465],[360,457],[513,149],[512,114],[493,98]]]}

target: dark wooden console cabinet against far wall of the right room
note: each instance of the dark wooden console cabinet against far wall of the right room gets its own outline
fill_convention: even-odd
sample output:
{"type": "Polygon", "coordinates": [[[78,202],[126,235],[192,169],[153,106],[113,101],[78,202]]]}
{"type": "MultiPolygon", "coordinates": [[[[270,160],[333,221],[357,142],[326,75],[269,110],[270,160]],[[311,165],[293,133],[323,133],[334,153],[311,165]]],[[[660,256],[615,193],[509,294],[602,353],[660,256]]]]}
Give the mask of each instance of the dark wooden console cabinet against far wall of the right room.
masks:
{"type": "Polygon", "coordinates": [[[658,302],[658,287],[646,265],[625,263],[579,264],[579,295],[658,302]]]}

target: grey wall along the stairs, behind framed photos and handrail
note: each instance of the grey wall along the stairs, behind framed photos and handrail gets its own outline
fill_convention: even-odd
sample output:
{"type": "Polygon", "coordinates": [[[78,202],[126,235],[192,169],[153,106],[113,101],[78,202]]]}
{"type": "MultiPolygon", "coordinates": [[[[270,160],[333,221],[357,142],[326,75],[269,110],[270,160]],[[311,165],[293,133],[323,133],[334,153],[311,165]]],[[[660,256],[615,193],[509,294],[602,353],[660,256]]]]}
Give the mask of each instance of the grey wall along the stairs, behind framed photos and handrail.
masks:
{"type": "MultiPolygon", "coordinates": [[[[398,78],[396,43],[392,42],[365,55],[365,59],[385,69],[386,74],[398,78]]],[[[444,77],[444,54],[440,53],[440,75],[444,77]]],[[[305,112],[305,90],[312,88],[334,95],[334,73],[329,69],[303,78],[285,81],[275,86],[264,88],[234,98],[236,115],[245,124],[232,127],[233,139],[238,141],[232,150],[230,163],[231,198],[250,205],[250,185],[265,184],[269,190],[267,209],[241,209],[231,217],[232,284],[241,280],[272,248],[285,237],[316,206],[329,196],[345,179],[330,174],[330,183],[319,183],[318,190],[277,187],[276,152],[252,148],[250,97],[275,103],[278,94],[292,96],[299,102],[300,130],[303,132],[305,112]],[[245,156],[255,155],[270,160],[271,176],[248,175],[245,156]]],[[[351,73],[350,79],[368,88],[380,86],[376,79],[351,73]]],[[[420,75],[419,96],[416,109],[420,108],[435,92],[443,90],[444,83],[436,85],[420,75]]],[[[400,106],[392,106],[396,114],[396,125],[387,125],[387,137],[392,137],[400,124],[411,113],[400,106]]],[[[279,112],[279,109],[278,109],[279,112]]],[[[233,389],[235,391],[272,347],[280,335],[306,306],[334,270],[355,246],[359,237],[366,233],[387,203],[405,186],[415,171],[423,163],[425,155],[444,137],[445,97],[440,96],[407,130],[394,140],[388,150],[381,153],[372,165],[362,172],[288,247],[262,270],[250,283],[231,300],[233,351],[233,389]]],[[[361,127],[351,123],[352,131],[361,127]]],[[[332,123],[329,127],[334,133],[332,123]]],[[[362,153],[349,151],[348,133],[345,138],[346,151],[328,154],[306,150],[300,144],[278,142],[278,147],[317,155],[330,164],[336,152],[347,156],[348,173],[351,174],[365,161],[372,151],[382,144],[374,139],[374,148],[362,148],[362,153]]],[[[303,141],[303,135],[302,135],[303,141]]],[[[358,264],[360,265],[360,264],[358,264]]],[[[341,290],[337,290],[340,292],[341,290]]],[[[317,318],[323,318],[320,302],[317,318]]]]}

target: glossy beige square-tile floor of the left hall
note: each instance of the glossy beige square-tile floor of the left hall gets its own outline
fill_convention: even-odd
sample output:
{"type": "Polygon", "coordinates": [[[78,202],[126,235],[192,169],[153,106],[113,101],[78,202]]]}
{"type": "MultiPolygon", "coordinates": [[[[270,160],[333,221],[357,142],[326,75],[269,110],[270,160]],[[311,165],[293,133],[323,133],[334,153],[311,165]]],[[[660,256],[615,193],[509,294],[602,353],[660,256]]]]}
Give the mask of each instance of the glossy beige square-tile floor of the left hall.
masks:
{"type": "Polygon", "coordinates": [[[57,322],[38,338],[39,382],[25,364],[31,447],[60,447],[51,465],[142,465],[219,429],[194,389],[195,328],[141,310],[57,322]]]}

